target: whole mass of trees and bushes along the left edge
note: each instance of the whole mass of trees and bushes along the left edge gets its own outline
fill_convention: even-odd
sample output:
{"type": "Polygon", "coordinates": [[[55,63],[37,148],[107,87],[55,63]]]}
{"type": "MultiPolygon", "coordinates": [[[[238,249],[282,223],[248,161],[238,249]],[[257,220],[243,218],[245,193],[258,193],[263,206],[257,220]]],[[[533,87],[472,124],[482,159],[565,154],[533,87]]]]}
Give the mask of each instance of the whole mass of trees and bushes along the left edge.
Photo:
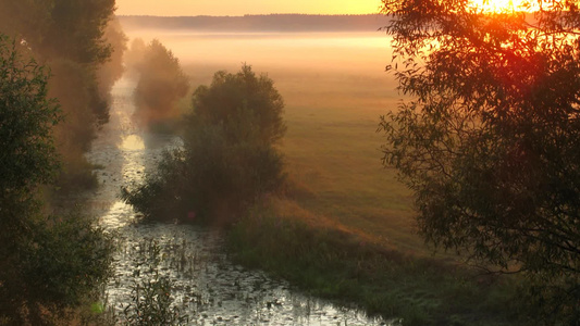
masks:
{"type": "Polygon", "coordinates": [[[114,0],[0,1],[0,324],[81,322],[109,276],[108,236],[54,193],[96,186],[84,153],[126,41],[113,12],[114,0]]]}

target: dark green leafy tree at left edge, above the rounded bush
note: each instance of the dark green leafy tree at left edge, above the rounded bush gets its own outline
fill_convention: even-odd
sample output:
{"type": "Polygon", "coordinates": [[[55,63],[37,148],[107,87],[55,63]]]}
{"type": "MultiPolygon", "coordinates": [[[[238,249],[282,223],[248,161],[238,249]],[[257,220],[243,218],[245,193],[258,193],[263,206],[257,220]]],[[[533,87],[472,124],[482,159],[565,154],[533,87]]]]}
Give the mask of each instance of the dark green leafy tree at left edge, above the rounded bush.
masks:
{"type": "MultiPolygon", "coordinates": [[[[18,216],[37,206],[36,188],[58,167],[52,127],[61,116],[55,101],[47,99],[47,79],[42,66],[24,61],[0,35],[0,229],[7,236],[26,229],[18,216]]],[[[9,252],[14,244],[2,243],[9,252]]]]}

